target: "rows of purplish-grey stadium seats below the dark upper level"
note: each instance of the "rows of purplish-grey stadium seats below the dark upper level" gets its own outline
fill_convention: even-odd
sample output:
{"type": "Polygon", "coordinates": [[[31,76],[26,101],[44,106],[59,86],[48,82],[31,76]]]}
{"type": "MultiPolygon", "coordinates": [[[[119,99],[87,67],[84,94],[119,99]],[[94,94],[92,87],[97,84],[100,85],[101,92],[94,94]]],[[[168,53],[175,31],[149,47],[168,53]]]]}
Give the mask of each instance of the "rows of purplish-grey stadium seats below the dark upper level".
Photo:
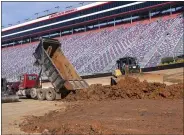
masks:
{"type": "MultiPolygon", "coordinates": [[[[155,18],[111,28],[63,36],[66,57],[81,75],[111,72],[116,60],[137,57],[142,67],[156,66],[162,57],[182,54],[181,15],[155,18]]],[[[36,44],[2,49],[2,77],[17,80],[23,73],[39,73],[33,66],[36,44]]]]}

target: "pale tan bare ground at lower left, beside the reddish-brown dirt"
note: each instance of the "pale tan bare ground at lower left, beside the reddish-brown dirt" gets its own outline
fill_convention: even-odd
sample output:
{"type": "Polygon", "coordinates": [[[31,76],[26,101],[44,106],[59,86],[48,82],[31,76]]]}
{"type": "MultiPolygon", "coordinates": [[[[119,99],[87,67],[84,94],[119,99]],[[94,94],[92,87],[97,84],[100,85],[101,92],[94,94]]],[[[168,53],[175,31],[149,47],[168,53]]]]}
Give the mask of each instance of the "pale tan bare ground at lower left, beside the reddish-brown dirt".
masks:
{"type": "Polygon", "coordinates": [[[26,115],[41,116],[56,109],[65,109],[63,102],[20,99],[20,102],[2,104],[2,134],[24,134],[19,124],[26,115]],[[58,107],[58,105],[60,105],[58,107]]]}

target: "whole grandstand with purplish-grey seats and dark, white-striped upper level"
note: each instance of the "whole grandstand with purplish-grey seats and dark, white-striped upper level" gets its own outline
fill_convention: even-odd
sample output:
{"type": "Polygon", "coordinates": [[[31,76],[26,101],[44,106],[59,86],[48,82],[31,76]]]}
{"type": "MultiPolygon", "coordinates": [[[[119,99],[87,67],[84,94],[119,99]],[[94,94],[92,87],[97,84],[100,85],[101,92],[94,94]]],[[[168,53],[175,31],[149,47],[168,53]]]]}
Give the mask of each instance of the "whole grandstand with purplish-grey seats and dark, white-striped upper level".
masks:
{"type": "Polygon", "coordinates": [[[39,37],[57,38],[81,75],[111,72],[116,60],[141,67],[183,54],[182,2],[95,2],[2,29],[2,76],[38,73],[32,53],[39,37]]]}

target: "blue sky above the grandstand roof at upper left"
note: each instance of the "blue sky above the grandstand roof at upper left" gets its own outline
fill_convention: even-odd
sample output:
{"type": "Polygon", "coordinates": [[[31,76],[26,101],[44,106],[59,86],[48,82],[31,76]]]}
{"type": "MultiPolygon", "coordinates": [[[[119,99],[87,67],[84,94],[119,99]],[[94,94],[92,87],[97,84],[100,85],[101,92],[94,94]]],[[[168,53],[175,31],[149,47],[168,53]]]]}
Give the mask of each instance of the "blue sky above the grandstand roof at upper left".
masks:
{"type": "MultiPolygon", "coordinates": [[[[25,19],[36,17],[38,15],[45,15],[43,12],[47,9],[52,11],[67,10],[66,7],[73,5],[73,7],[81,6],[80,2],[2,2],[2,26],[7,27],[8,24],[17,24],[18,21],[23,22],[25,19]],[[55,7],[59,6],[57,9],[55,7]]],[[[91,3],[91,2],[86,2],[91,3]]]]}

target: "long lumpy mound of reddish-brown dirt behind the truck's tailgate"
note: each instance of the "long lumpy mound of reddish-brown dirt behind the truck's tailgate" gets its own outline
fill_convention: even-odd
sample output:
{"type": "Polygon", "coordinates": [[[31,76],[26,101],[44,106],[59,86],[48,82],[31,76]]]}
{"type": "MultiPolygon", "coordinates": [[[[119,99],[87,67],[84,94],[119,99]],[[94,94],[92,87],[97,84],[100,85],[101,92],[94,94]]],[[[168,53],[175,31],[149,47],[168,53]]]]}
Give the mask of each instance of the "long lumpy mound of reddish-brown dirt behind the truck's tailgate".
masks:
{"type": "Polygon", "coordinates": [[[162,83],[140,82],[125,77],[117,85],[90,85],[88,89],[71,92],[64,100],[116,100],[116,99],[179,99],[183,97],[183,83],[166,86],[162,83]]]}

